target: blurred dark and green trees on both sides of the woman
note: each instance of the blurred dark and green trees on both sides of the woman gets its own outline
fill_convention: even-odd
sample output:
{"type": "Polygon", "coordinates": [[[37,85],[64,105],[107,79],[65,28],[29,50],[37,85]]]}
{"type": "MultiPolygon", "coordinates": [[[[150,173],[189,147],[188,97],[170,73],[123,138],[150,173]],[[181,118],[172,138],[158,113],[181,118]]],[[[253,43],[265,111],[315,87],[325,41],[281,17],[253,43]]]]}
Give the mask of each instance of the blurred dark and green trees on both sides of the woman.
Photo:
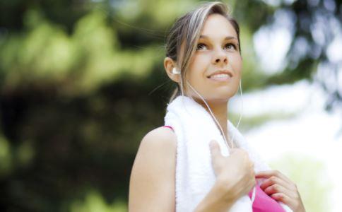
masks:
{"type": "MultiPolygon", "coordinates": [[[[329,56],[341,1],[227,2],[242,28],[244,92],[307,78],[331,94],[327,109],[341,103],[337,81],[324,81],[341,74],[329,56]],[[283,71],[269,74],[253,37],[279,17],[292,44],[283,71]]],[[[127,198],[138,144],[163,124],[174,86],[163,71],[167,30],[199,3],[0,1],[0,211],[85,211],[127,198]]]]}

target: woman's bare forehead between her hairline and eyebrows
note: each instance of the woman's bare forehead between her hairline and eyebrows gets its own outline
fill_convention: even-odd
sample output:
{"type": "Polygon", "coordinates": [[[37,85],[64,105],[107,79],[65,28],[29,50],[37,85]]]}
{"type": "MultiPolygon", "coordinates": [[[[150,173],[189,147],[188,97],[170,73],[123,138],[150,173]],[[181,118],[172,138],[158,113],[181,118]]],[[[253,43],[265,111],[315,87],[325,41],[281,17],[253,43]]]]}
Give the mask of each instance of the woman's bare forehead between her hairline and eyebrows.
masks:
{"type": "Polygon", "coordinates": [[[201,35],[206,35],[211,38],[221,38],[226,36],[237,37],[237,33],[229,20],[216,13],[208,16],[201,30],[201,35]]]}

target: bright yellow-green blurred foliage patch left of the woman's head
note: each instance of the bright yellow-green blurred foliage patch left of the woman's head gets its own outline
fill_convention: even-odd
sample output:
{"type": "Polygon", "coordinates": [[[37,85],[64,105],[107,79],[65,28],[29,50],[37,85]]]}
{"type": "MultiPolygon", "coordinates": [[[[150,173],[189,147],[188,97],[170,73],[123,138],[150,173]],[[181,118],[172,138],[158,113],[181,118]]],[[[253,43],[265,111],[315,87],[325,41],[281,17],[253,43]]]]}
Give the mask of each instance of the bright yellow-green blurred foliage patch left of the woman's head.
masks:
{"type": "Polygon", "coordinates": [[[4,89],[25,84],[58,83],[64,95],[86,94],[122,75],[146,76],[162,60],[158,45],[120,49],[106,16],[94,10],[81,18],[72,35],[29,11],[27,35],[5,38],[0,50],[4,89]]]}

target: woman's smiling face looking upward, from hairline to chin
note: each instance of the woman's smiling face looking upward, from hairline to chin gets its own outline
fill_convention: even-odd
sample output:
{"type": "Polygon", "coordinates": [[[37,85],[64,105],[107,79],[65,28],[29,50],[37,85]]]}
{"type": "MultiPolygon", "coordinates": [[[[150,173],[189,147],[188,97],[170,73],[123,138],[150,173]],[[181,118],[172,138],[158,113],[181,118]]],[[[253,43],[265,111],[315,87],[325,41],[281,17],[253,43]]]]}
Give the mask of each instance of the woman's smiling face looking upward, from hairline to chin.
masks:
{"type": "MultiPolygon", "coordinates": [[[[205,100],[227,102],[237,92],[242,71],[237,33],[224,16],[211,14],[200,35],[187,81],[205,100]]],[[[189,86],[188,92],[199,99],[189,86]]]]}

